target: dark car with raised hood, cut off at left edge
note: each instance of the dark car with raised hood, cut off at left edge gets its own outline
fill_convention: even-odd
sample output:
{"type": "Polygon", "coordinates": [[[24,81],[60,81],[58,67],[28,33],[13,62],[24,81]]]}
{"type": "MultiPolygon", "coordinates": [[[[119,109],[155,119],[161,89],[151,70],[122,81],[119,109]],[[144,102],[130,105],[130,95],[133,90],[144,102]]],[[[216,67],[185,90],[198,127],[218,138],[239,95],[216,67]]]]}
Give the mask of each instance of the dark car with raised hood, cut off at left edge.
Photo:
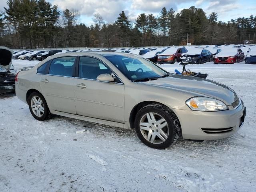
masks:
{"type": "Polygon", "coordinates": [[[12,66],[12,50],[0,47],[0,94],[14,92],[15,74],[12,66]]]}

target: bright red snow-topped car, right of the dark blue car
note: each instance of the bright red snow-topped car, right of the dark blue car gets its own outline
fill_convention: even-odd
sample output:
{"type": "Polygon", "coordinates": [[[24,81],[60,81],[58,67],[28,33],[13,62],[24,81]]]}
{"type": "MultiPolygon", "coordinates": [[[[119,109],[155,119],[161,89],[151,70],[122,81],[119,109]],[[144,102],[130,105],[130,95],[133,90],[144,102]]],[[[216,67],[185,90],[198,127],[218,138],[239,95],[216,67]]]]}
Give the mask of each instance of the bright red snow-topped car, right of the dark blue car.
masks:
{"type": "Polygon", "coordinates": [[[214,64],[233,64],[244,60],[244,52],[240,48],[224,48],[216,54],[214,64]]]}

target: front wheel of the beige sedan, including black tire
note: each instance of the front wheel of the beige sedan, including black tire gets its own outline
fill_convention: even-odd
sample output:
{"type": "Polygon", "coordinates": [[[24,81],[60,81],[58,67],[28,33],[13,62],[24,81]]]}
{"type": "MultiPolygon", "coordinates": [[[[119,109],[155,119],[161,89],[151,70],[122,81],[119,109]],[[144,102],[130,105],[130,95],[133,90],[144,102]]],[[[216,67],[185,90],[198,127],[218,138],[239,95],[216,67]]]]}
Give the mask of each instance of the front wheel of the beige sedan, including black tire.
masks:
{"type": "Polygon", "coordinates": [[[146,146],[165,149],[178,140],[180,123],[169,108],[160,104],[149,104],[136,114],[135,130],[146,146]]]}

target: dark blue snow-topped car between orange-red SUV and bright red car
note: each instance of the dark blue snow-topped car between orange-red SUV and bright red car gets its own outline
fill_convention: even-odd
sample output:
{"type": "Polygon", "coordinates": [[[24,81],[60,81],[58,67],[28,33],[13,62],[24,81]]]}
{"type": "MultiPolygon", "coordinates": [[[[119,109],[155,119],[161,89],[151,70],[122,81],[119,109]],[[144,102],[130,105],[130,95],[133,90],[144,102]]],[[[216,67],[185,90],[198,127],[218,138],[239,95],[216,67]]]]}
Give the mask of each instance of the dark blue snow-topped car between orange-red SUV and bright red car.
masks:
{"type": "Polygon", "coordinates": [[[212,61],[212,53],[207,49],[187,48],[188,52],[182,54],[181,64],[202,64],[212,61]]]}

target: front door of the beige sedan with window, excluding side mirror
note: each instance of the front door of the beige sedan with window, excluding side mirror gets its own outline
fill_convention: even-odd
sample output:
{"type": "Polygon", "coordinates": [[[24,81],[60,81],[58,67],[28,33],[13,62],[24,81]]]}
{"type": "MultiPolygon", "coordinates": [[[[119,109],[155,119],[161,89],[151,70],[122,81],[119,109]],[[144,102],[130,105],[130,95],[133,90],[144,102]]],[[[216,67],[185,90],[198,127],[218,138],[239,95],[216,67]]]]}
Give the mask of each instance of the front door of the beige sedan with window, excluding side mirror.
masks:
{"type": "Polygon", "coordinates": [[[97,80],[100,74],[114,73],[100,60],[80,56],[74,78],[76,113],[82,116],[124,122],[124,84],[97,80]]]}

